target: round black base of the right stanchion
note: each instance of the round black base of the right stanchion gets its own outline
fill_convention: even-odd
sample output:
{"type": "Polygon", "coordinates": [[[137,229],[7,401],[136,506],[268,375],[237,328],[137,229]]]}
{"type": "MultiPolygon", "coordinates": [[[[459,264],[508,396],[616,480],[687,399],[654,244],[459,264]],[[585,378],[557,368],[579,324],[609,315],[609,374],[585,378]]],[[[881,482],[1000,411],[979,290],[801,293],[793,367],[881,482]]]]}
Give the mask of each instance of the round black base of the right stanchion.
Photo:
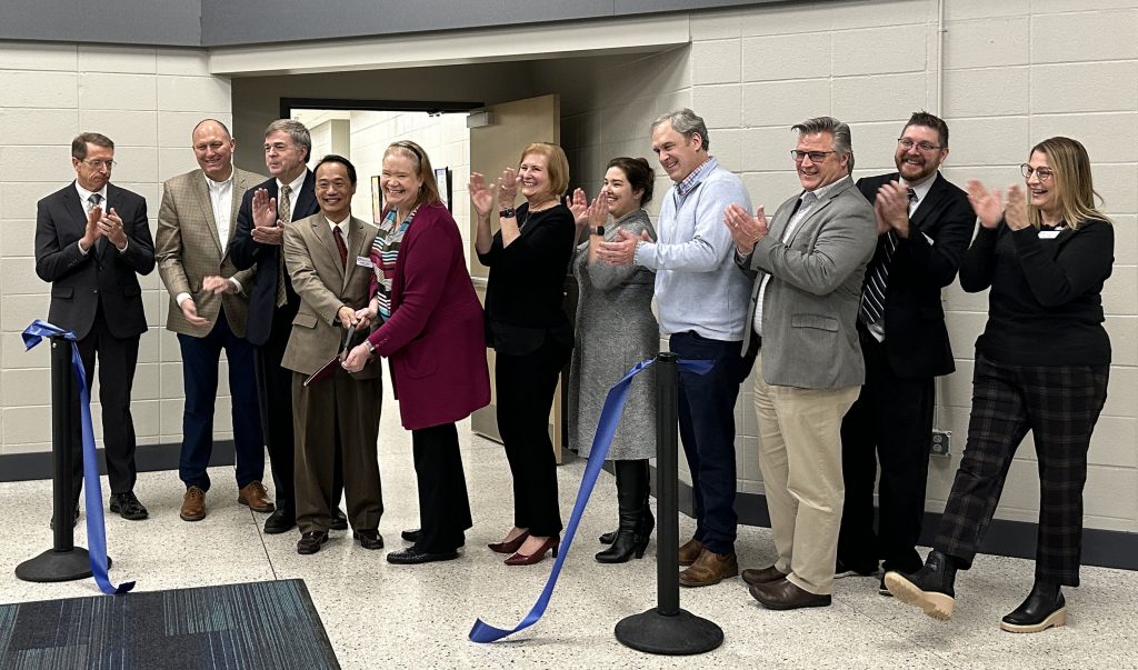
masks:
{"type": "Polygon", "coordinates": [[[621,619],[613,632],[626,647],[667,656],[702,654],[723,644],[721,628],[687,610],[665,617],[653,607],[621,619]]]}

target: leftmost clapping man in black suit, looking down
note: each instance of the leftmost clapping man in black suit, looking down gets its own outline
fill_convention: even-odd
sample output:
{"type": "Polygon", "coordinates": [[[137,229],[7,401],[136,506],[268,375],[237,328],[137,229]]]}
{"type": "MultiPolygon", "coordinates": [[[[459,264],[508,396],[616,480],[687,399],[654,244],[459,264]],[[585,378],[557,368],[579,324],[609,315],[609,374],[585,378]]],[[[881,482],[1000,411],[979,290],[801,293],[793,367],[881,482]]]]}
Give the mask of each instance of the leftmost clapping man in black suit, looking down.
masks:
{"type": "MultiPolygon", "coordinates": [[[[48,321],[75,331],[88,384],[98,354],[110,511],[140,520],[147,510],[134,496],[131,384],[139,337],[147,330],[138,275],[154,270],[154,240],[146,199],[109,183],[114,165],[115,143],[106,135],[82,133],[72,141],[75,181],[36,205],[35,273],[51,282],[48,321]]],[[[77,389],[72,405],[72,498],[77,516],[83,485],[77,389]]]]}

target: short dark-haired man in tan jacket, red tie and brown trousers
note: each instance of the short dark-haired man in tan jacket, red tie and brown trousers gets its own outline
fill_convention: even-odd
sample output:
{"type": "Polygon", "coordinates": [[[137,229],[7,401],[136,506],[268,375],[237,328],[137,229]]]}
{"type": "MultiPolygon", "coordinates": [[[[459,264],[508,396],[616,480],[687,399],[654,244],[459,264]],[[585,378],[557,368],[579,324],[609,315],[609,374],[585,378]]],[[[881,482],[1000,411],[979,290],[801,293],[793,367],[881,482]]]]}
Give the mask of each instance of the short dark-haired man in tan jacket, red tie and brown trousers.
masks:
{"type": "MultiPolygon", "coordinates": [[[[292,425],[296,433],[297,553],[314,554],[331,527],[336,448],[343,450],[344,493],[353,536],[379,549],[384,498],[376,441],[382,377],[378,358],[356,373],[336,364],[332,374],[310,386],[305,379],[343,350],[351,326],[365,322],[356,309],[368,305],[372,278],[368,253],[378,230],[352,216],[355,167],[329,155],[316,164],[320,213],[284,228],[284,265],[300,307],[281,365],[292,371],[292,425]]],[[[356,342],[352,342],[356,344],[356,342]]]]}

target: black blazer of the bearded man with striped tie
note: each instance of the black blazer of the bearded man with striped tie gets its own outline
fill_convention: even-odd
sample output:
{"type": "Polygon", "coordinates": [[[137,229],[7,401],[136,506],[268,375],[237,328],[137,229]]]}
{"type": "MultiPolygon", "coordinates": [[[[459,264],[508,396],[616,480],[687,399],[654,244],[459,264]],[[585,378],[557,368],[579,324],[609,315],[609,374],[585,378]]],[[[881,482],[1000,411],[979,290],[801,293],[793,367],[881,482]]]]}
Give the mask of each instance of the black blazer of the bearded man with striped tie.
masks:
{"type": "MultiPolygon", "coordinates": [[[[863,177],[857,188],[873,202],[879,188],[899,179],[896,172],[863,177]]],[[[929,193],[909,220],[909,238],[898,239],[889,264],[884,346],[889,366],[897,377],[922,379],[956,370],[940,289],[956,278],[975,224],[976,215],[967,195],[937,173],[929,193]]],[[[885,235],[881,235],[871,270],[884,253],[885,235]]],[[[858,326],[864,328],[860,322],[858,326]]]]}

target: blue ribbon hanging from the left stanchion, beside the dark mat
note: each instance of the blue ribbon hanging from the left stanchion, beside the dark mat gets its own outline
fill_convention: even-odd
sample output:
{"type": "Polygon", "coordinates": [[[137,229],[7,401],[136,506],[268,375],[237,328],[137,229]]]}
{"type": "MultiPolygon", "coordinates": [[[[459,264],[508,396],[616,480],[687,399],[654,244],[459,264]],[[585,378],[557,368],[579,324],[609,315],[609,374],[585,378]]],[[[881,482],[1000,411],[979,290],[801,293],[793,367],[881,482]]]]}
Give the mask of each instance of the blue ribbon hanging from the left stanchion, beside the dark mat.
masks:
{"type": "MultiPolygon", "coordinates": [[[[91,389],[86,384],[86,372],[83,359],[75,345],[75,333],[36,319],[24,330],[24,347],[30,350],[43,338],[63,336],[72,344],[72,370],[79,381],[79,407],[82,414],[83,428],[83,495],[86,506],[86,541],[88,556],[91,559],[91,574],[99,590],[109,595],[124,594],[134,588],[133,581],[125,581],[117,587],[107,577],[107,526],[102,519],[102,490],[99,483],[99,462],[94,452],[94,429],[91,425],[91,389]]],[[[67,436],[68,439],[71,436],[67,436]]],[[[67,448],[71,448],[68,445],[67,448]]],[[[58,483],[58,482],[57,482],[58,483]]],[[[58,512],[58,510],[57,510],[58,512]]],[[[68,514],[71,510],[66,510],[68,514]]],[[[56,519],[56,523],[67,523],[69,519],[56,519]]]]}

